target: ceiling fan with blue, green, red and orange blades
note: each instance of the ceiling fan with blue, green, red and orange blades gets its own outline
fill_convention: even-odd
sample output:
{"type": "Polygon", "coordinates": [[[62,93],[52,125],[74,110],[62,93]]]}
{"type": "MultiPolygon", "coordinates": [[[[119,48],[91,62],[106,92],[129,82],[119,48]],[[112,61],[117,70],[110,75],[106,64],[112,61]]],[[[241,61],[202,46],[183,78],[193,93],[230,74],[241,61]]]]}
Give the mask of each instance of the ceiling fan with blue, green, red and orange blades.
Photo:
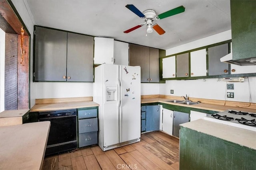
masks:
{"type": "Polygon", "coordinates": [[[152,33],[153,29],[154,29],[159,35],[162,35],[162,34],[165,33],[164,29],[162,29],[157,23],[153,23],[153,21],[164,19],[164,18],[167,18],[169,16],[180,14],[180,13],[185,11],[184,6],[179,6],[177,8],[172,9],[172,10],[166,11],[162,14],[156,15],[156,12],[154,10],[146,10],[144,12],[140,12],[140,10],[138,10],[132,4],[128,4],[125,7],[128,8],[129,10],[131,10],[134,14],[136,14],[140,18],[144,19],[144,23],[141,23],[141,24],[139,24],[135,27],[132,27],[130,29],[127,29],[126,31],[124,31],[124,33],[129,33],[131,31],[134,31],[135,29],[138,29],[138,28],[140,28],[140,27],[142,27],[143,25],[146,24],[147,25],[147,29],[146,29],[147,33],[152,33]]]}

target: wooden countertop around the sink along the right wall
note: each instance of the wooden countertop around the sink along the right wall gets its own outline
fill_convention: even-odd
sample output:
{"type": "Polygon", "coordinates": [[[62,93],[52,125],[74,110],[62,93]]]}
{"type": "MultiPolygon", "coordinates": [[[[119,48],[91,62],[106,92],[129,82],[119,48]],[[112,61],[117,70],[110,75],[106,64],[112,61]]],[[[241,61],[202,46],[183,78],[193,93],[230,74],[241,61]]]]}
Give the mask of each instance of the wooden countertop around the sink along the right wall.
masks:
{"type": "Polygon", "coordinates": [[[251,109],[251,108],[246,108],[246,107],[223,106],[223,105],[208,104],[208,103],[186,105],[186,104],[167,102],[168,100],[172,100],[172,99],[170,99],[170,98],[145,98],[145,99],[143,99],[142,98],[141,103],[146,104],[146,103],[161,102],[161,103],[172,104],[172,105],[176,105],[176,106],[192,107],[192,108],[197,108],[197,109],[212,110],[212,111],[219,111],[219,112],[231,109],[231,110],[247,111],[247,112],[251,112],[251,113],[256,113],[256,109],[251,109]]]}

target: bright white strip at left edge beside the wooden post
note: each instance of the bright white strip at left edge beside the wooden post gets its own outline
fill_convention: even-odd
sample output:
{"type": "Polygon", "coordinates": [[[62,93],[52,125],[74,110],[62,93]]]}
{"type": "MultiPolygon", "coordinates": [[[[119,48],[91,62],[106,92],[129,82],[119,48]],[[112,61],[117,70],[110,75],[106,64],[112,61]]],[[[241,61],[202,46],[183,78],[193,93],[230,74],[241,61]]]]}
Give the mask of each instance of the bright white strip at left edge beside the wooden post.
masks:
{"type": "Polygon", "coordinates": [[[0,112],[4,111],[5,32],[0,28],[0,112]]]}

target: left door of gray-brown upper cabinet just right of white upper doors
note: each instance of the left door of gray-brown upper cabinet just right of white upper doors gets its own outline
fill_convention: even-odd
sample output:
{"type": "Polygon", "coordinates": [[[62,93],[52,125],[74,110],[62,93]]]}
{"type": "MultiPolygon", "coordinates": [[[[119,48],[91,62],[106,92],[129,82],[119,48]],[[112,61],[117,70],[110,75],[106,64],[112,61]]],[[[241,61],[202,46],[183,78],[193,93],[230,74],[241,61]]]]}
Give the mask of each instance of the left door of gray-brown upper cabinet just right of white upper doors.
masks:
{"type": "Polygon", "coordinates": [[[140,66],[141,82],[149,82],[149,47],[130,44],[130,66],[140,66]]]}

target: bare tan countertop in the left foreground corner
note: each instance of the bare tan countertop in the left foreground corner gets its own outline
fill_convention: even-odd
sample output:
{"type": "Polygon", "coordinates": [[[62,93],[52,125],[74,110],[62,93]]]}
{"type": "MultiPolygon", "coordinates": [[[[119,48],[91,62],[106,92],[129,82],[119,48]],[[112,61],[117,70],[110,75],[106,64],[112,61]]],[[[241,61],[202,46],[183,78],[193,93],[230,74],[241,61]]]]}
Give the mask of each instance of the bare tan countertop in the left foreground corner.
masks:
{"type": "Polygon", "coordinates": [[[0,169],[42,169],[50,121],[0,128],[0,169]]]}

